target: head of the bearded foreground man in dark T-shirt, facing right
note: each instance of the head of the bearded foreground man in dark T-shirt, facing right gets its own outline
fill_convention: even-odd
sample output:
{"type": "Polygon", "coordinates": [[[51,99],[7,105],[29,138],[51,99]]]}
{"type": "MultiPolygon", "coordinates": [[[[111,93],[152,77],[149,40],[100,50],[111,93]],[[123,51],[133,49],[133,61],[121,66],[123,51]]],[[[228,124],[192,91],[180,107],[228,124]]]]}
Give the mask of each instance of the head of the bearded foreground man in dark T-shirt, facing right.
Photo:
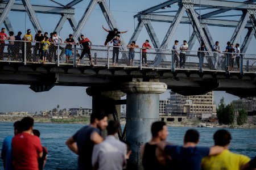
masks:
{"type": "Polygon", "coordinates": [[[104,130],[108,126],[108,115],[103,112],[92,113],[90,115],[90,123],[95,124],[98,129],[104,130]]]}

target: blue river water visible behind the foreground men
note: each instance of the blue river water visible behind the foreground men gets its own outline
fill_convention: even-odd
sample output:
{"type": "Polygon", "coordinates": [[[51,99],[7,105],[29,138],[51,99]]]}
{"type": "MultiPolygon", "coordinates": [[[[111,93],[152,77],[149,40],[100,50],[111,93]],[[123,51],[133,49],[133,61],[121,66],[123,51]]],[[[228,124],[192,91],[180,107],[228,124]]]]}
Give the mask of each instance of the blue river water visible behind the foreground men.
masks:
{"type": "MultiPolygon", "coordinates": [[[[76,169],[77,155],[68,150],[65,141],[82,126],[81,124],[40,124],[36,123],[34,129],[41,133],[43,146],[48,149],[48,158],[44,169],[76,169]]],[[[7,135],[13,135],[13,123],[0,122],[0,147],[7,135]]],[[[190,128],[168,127],[168,140],[181,145],[185,131],[190,128]]],[[[213,134],[217,128],[195,128],[200,132],[199,146],[212,146],[213,134]]],[[[148,129],[150,130],[150,129],[148,129]]],[[[232,134],[230,150],[245,154],[250,158],[256,156],[256,129],[228,129],[232,134]]],[[[0,169],[3,162],[0,160],[0,169]]]]}

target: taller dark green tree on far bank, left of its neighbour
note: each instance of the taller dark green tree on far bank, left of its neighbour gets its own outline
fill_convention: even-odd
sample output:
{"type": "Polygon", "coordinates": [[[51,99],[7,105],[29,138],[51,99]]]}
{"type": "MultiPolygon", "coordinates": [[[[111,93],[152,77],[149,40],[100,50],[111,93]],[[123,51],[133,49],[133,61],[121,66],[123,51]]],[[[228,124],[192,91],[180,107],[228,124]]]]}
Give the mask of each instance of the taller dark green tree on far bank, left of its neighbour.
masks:
{"type": "Polygon", "coordinates": [[[220,125],[234,124],[234,118],[235,118],[234,107],[232,104],[225,105],[224,97],[221,98],[220,104],[218,105],[217,117],[218,117],[218,123],[220,125]]]}

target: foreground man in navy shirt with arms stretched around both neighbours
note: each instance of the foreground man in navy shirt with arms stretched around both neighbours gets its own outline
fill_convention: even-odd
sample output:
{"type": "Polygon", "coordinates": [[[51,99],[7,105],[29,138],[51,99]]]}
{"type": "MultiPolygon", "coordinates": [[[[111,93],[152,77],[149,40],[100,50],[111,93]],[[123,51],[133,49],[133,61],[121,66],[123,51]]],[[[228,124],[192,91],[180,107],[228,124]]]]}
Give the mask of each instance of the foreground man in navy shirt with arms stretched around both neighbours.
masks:
{"type": "Polygon", "coordinates": [[[185,133],[183,146],[167,145],[167,143],[161,142],[158,147],[171,157],[171,169],[200,170],[201,160],[204,156],[220,154],[224,147],[198,147],[196,146],[198,143],[198,131],[189,129],[185,133]]]}

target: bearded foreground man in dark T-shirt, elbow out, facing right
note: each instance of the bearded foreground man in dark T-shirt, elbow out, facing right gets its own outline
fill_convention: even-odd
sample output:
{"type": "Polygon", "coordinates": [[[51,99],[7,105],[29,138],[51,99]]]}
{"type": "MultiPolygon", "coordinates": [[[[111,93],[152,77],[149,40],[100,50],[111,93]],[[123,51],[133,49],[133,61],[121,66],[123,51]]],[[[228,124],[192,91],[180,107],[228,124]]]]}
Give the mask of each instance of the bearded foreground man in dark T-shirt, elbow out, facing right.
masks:
{"type": "Polygon", "coordinates": [[[75,154],[79,155],[79,170],[92,169],[92,152],[95,144],[101,143],[104,139],[100,130],[108,126],[108,115],[105,113],[92,113],[90,125],[84,126],[70,137],[66,145],[75,154]]]}

